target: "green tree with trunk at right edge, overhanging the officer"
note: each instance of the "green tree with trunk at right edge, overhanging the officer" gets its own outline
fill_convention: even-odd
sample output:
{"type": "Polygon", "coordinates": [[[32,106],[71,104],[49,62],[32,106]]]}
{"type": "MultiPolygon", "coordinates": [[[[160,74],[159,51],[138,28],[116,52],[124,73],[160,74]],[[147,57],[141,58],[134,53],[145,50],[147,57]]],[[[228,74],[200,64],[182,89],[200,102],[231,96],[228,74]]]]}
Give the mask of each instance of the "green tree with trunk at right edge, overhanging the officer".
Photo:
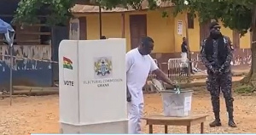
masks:
{"type": "Polygon", "coordinates": [[[197,13],[201,23],[222,20],[225,27],[239,31],[241,37],[252,31],[252,65],[248,75],[241,81],[256,87],[256,1],[254,0],[172,0],[176,6],[174,14],[185,10],[197,13]]]}

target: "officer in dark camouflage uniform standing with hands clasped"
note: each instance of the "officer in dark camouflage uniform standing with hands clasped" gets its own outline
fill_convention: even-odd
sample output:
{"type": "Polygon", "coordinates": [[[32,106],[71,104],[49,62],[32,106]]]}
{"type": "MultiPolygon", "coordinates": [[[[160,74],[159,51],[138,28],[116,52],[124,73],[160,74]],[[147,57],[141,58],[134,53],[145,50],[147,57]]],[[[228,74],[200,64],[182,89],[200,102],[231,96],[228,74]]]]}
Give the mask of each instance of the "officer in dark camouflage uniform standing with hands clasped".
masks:
{"type": "Polygon", "coordinates": [[[218,22],[210,24],[210,36],[201,44],[201,60],[207,67],[207,90],[211,93],[212,110],[215,121],[210,123],[210,127],[220,127],[219,118],[219,93],[224,94],[226,110],[229,115],[229,126],[236,127],[233,119],[233,101],[231,93],[232,75],[231,59],[233,48],[230,38],[224,37],[220,32],[218,22]]]}

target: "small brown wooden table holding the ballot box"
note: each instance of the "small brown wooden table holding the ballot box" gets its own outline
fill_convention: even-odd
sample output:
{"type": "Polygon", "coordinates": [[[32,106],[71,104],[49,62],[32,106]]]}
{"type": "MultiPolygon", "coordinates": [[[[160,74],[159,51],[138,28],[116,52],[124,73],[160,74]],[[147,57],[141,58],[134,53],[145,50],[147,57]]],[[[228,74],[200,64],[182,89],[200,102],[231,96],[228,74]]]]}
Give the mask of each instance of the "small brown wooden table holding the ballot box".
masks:
{"type": "Polygon", "coordinates": [[[204,133],[204,122],[208,115],[189,115],[186,117],[166,117],[164,115],[148,115],[143,117],[149,126],[149,133],[153,133],[153,125],[164,125],[165,133],[168,133],[168,126],[186,126],[187,133],[190,133],[191,126],[201,124],[201,133],[204,133]]]}

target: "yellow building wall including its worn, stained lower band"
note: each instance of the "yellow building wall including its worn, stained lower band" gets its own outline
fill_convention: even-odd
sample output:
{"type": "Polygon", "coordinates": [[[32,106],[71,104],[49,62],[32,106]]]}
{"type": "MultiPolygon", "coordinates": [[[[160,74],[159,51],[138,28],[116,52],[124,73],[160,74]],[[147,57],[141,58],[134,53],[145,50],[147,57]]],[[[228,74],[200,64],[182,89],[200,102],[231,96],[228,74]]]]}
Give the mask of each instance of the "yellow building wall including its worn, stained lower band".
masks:
{"type": "MultiPolygon", "coordinates": [[[[168,9],[172,12],[172,9],[168,9]]],[[[154,39],[154,52],[152,57],[157,59],[161,67],[166,71],[167,65],[164,64],[168,59],[180,58],[182,38],[186,37],[186,12],[177,14],[176,17],[169,13],[167,18],[162,18],[162,10],[156,11],[133,11],[125,13],[103,13],[102,14],[102,35],[107,38],[122,37],[123,18],[125,14],[125,38],[127,43],[127,51],[131,49],[130,20],[131,14],[147,14],[147,35],[154,39]],[[183,33],[177,34],[177,22],[182,20],[183,33]]],[[[81,14],[79,14],[81,15],[81,14]]],[[[87,39],[99,39],[99,15],[98,14],[82,14],[87,19],[87,39]]],[[[233,31],[225,28],[222,23],[221,32],[230,37],[233,41],[233,31]]],[[[194,19],[194,29],[189,29],[189,46],[192,51],[192,61],[197,68],[204,67],[199,58],[200,51],[200,22],[198,18],[194,19]]],[[[251,63],[250,34],[240,38],[240,48],[235,48],[234,59],[232,65],[238,69],[249,67],[251,63]],[[242,63],[241,61],[244,61],[242,63]]]]}

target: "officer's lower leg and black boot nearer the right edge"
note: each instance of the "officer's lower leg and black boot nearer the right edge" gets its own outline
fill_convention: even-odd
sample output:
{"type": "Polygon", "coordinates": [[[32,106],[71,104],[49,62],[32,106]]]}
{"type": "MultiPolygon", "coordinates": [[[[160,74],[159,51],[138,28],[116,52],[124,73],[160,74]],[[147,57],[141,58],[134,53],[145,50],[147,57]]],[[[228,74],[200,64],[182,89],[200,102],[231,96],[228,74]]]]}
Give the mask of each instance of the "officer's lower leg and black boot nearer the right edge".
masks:
{"type": "Polygon", "coordinates": [[[229,127],[236,127],[236,123],[234,121],[234,115],[233,115],[233,112],[234,112],[233,101],[234,101],[233,98],[225,99],[227,111],[229,114],[229,122],[228,122],[229,127]]]}

